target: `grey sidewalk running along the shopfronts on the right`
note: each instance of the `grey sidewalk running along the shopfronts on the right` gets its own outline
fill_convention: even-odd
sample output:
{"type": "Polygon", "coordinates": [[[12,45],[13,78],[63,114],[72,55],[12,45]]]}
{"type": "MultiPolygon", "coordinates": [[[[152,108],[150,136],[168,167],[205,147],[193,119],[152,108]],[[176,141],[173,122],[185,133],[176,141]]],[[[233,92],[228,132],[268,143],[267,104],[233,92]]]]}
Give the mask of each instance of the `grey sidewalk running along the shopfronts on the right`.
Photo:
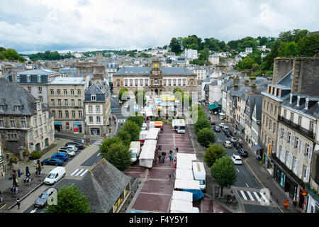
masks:
{"type": "MultiPolygon", "coordinates": [[[[203,111],[208,114],[208,108],[206,106],[202,106],[203,111]]],[[[212,119],[216,121],[216,124],[220,122],[218,116],[209,114],[212,119]]],[[[230,131],[235,131],[235,128],[230,123],[225,123],[230,131]]],[[[242,148],[247,150],[248,157],[243,160],[244,164],[246,165],[247,169],[252,173],[254,178],[257,179],[257,182],[260,184],[261,187],[269,189],[269,192],[272,196],[274,204],[279,208],[279,210],[283,213],[300,213],[295,206],[293,206],[293,201],[291,198],[284,192],[284,189],[281,189],[279,184],[272,178],[272,175],[256,160],[256,153],[254,150],[248,145],[245,141],[245,138],[237,133],[237,138],[242,139],[242,148]],[[284,200],[289,200],[289,207],[284,208],[284,200]]]]}

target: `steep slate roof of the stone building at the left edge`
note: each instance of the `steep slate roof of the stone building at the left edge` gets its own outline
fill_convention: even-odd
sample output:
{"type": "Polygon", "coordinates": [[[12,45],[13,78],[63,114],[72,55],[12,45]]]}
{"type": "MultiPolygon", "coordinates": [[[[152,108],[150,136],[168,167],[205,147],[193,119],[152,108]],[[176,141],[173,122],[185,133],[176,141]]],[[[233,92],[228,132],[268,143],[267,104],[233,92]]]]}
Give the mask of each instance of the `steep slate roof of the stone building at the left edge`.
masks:
{"type": "MultiPolygon", "coordinates": [[[[14,116],[33,116],[37,114],[35,99],[30,92],[21,87],[19,84],[13,84],[7,79],[0,78],[0,105],[6,105],[1,115],[14,116]],[[21,111],[14,111],[14,106],[23,106],[21,111]]],[[[42,104],[43,111],[47,111],[46,105],[42,104]]]]}

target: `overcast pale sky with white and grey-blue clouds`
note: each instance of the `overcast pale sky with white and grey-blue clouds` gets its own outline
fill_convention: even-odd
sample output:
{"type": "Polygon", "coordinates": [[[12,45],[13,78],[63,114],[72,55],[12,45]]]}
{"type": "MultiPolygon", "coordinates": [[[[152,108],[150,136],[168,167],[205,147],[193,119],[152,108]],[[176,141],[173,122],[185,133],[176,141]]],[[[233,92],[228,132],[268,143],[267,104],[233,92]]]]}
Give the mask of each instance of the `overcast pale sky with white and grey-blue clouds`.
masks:
{"type": "Polygon", "coordinates": [[[318,0],[1,1],[0,46],[18,52],[143,50],[172,37],[219,40],[318,31],[318,0]]]}

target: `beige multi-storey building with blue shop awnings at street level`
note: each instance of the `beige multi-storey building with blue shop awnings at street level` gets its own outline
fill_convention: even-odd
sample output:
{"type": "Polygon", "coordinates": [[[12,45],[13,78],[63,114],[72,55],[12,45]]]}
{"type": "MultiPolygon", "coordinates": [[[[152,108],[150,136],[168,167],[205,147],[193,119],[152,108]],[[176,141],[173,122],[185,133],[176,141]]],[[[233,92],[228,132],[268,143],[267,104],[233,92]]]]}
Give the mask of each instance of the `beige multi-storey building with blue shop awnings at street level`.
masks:
{"type": "Polygon", "coordinates": [[[88,85],[83,77],[57,77],[47,84],[55,131],[84,133],[84,93],[88,85]]]}

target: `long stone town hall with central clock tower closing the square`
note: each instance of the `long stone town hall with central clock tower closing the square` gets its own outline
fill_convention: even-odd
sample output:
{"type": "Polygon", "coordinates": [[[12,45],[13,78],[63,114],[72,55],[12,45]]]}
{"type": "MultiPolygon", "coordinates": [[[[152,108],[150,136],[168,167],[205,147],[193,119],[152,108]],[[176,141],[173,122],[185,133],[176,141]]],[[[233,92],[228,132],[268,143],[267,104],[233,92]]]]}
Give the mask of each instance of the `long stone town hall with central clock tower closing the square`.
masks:
{"type": "Polygon", "coordinates": [[[197,75],[186,67],[160,67],[159,60],[152,60],[152,67],[123,67],[113,74],[113,93],[126,88],[133,93],[144,89],[150,94],[165,94],[181,88],[184,92],[196,92],[197,75]]]}

